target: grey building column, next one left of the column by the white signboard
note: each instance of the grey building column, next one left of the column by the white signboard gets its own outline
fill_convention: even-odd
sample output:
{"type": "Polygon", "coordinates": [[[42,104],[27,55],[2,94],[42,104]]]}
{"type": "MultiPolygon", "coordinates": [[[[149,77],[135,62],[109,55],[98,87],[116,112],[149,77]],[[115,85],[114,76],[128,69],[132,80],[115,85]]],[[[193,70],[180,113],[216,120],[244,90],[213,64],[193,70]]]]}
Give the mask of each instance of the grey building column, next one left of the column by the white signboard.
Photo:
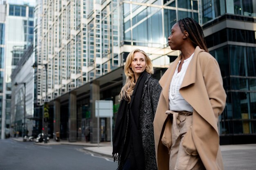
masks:
{"type": "Polygon", "coordinates": [[[69,118],[68,118],[68,140],[76,141],[76,92],[70,92],[69,96],[69,118]]]}

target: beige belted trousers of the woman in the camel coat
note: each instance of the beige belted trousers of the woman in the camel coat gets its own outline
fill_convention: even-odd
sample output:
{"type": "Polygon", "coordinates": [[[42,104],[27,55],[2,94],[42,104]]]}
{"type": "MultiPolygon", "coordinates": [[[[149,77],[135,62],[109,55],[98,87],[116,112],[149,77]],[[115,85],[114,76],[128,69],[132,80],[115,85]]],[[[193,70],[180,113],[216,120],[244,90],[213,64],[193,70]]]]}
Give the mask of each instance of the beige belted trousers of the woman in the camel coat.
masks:
{"type": "Polygon", "coordinates": [[[172,145],[170,151],[169,170],[205,170],[199,155],[189,155],[182,146],[182,140],[192,125],[192,113],[173,112],[172,145]]]}

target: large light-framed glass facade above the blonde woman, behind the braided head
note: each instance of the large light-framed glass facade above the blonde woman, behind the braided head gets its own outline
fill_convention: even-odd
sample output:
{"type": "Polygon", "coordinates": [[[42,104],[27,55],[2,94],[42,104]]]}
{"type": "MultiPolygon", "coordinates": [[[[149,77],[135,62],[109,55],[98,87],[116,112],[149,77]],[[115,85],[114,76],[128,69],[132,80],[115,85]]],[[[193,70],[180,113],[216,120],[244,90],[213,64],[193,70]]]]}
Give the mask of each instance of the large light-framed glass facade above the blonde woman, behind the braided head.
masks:
{"type": "Polygon", "coordinates": [[[122,4],[124,44],[163,48],[177,20],[191,17],[199,22],[197,0],[155,0],[152,6],[147,0],[133,2],[122,4]]]}

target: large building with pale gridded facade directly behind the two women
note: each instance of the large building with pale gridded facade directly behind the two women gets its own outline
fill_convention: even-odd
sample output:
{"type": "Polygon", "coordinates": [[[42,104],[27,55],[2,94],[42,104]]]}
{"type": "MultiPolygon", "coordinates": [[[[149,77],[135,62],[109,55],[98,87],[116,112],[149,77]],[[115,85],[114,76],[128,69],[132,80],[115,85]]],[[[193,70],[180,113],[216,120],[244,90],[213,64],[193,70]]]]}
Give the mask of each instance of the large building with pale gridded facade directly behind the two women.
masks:
{"type": "MultiPolygon", "coordinates": [[[[95,100],[113,100],[118,108],[128,53],[148,53],[159,79],[179,53],[166,45],[172,24],[184,17],[199,21],[198,9],[198,0],[37,1],[37,104],[49,102],[49,131],[76,141],[90,128],[97,142],[95,100]]],[[[110,140],[110,119],[100,124],[101,140],[110,140]]]]}

